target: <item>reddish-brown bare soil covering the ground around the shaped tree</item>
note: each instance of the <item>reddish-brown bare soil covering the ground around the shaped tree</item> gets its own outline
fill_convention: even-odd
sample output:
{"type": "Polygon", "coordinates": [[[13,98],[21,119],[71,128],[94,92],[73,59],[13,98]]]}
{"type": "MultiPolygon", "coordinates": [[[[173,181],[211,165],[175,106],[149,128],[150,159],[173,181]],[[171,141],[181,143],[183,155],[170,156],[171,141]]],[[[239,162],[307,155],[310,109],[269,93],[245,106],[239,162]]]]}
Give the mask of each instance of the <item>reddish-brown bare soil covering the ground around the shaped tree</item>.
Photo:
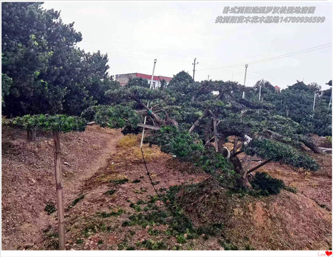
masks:
{"type": "MultiPolygon", "coordinates": [[[[48,201],[55,203],[51,134],[38,134],[36,142],[28,143],[23,130],[3,127],[2,140],[3,250],[57,249],[57,214],[48,215],[44,210],[48,201]]],[[[195,227],[213,221],[224,224],[222,235],[200,234],[187,239],[185,233],[181,234],[186,238],[182,242],[170,234],[169,223],[124,226],[140,214],[168,213],[168,222],[173,218],[170,207],[156,197],[146,174],[139,136],[127,142],[120,131],[88,126],[83,133],[61,134],[60,140],[62,162],[66,162],[62,166],[65,208],[72,204],[65,212],[68,250],[331,247],[331,155],[313,154],[322,166],[317,173],[275,162],[259,169],[295,187],[296,194],[283,190],[270,197],[239,198],[212,186],[210,176],[193,164],[144,145],[147,168],[159,194],[183,184],[180,212],[190,217],[195,227]],[[201,198],[205,187],[211,189],[208,195],[215,197],[211,199],[219,195],[221,201],[211,200],[214,206],[204,208],[210,201],[201,198]]],[[[179,201],[179,192],[176,198],[179,201]]]]}

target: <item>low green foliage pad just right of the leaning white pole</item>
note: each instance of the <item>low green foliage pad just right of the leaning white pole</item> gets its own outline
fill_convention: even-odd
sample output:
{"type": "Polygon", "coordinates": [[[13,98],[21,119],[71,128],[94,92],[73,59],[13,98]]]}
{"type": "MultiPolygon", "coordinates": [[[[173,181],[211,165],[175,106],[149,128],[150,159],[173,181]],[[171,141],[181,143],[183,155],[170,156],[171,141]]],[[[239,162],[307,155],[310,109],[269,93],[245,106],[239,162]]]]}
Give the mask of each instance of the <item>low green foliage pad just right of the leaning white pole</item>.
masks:
{"type": "Polygon", "coordinates": [[[189,134],[188,131],[180,132],[174,126],[161,127],[146,137],[144,142],[157,144],[163,152],[176,155],[181,160],[191,160],[204,151],[204,144],[195,134],[189,134]]]}

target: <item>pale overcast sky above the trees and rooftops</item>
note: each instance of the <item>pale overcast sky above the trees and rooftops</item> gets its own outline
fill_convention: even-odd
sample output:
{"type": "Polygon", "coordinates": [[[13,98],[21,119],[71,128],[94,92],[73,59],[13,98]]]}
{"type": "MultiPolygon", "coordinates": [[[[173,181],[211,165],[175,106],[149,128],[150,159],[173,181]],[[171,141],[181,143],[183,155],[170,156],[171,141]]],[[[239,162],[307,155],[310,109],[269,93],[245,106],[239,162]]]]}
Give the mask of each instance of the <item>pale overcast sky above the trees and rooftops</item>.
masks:
{"type": "MultiPolygon", "coordinates": [[[[140,72],[172,77],[185,70],[195,80],[234,80],[246,85],[265,79],[285,88],[296,80],[332,79],[331,2],[46,2],[61,10],[64,23],[75,22],[86,51],[108,54],[109,74],[140,72]],[[230,6],[315,6],[315,14],[223,14],[230,6]],[[325,16],[323,23],[221,24],[217,16],[325,16]],[[260,63],[283,54],[321,46],[319,50],[260,63]],[[328,46],[328,47],[327,47],[328,46]],[[225,67],[229,66],[229,67],[225,67]],[[234,67],[230,67],[234,66],[234,67]]],[[[312,48],[313,50],[316,48],[312,48]]]]}

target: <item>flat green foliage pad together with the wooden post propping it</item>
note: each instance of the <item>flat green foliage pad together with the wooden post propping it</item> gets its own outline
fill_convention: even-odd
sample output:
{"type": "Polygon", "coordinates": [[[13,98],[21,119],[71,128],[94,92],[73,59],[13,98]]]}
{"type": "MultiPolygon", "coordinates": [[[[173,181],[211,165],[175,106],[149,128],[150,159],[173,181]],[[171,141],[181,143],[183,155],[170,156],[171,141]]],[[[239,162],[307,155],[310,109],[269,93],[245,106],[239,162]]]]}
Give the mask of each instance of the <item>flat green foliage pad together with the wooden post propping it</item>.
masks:
{"type": "Polygon", "coordinates": [[[65,250],[65,224],[64,224],[64,201],[63,179],[61,172],[60,132],[84,131],[86,121],[76,116],[65,115],[33,115],[14,118],[12,124],[26,128],[26,124],[33,123],[34,128],[44,131],[52,131],[53,153],[55,168],[55,186],[57,188],[57,211],[58,211],[58,235],[59,250],[65,250]],[[24,120],[24,122],[23,122],[24,120]]]}

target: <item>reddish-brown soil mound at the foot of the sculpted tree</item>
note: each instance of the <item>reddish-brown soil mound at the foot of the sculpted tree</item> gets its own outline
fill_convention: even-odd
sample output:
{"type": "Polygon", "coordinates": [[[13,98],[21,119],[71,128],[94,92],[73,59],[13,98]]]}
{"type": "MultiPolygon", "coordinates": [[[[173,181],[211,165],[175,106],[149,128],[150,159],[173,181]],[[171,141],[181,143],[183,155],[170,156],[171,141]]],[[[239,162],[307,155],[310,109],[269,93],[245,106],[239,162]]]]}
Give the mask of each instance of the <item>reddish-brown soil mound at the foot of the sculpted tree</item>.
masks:
{"type": "Polygon", "coordinates": [[[331,248],[331,214],[300,193],[282,190],[269,197],[240,197],[208,179],[184,192],[183,202],[196,226],[224,224],[227,241],[221,245],[231,249],[331,248]]]}

